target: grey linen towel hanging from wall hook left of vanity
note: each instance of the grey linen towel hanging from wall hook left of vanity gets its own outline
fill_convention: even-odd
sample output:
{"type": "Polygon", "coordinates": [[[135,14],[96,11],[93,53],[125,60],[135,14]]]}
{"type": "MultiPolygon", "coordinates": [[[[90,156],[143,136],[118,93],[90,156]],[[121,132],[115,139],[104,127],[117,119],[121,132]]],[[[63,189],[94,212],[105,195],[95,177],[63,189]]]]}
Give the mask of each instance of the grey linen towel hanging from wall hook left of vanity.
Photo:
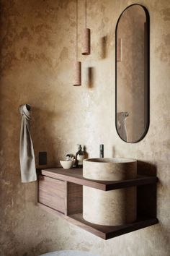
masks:
{"type": "Polygon", "coordinates": [[[35,153],[30,135],[30,105],[22,105],[19,107],[22,115],[22,124],[20,132],[19,158],[21,168],[22,182],[35,182],[37,180],[35,168],[35,153]]]}

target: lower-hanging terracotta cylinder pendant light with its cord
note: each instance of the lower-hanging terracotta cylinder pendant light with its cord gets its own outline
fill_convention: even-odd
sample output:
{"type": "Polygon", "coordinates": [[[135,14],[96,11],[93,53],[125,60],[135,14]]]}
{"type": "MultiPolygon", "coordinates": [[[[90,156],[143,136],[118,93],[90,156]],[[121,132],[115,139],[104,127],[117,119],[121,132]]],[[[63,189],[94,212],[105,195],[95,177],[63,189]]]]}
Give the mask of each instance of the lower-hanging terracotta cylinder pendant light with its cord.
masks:
{"type": "Polygon", "coordinates": [[[81,85],[81,61],[78,61],[78,0],[76,0],[76,61],[74,63],[73,85],[81,85]]]}

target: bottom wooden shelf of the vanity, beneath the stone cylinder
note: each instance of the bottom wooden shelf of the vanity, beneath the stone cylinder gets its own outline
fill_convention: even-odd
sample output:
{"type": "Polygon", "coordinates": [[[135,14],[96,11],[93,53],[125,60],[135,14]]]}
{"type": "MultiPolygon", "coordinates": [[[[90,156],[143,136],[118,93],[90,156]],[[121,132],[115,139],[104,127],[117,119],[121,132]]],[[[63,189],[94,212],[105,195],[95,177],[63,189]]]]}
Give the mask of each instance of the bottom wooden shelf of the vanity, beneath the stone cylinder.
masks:
{"type": "Polygon", "coordinates": [[[146,228],[147,226],[152,226],[158,223],[157,218],[140,217],[134,223],[128,223],[120,226],[102,226],[85,221],[82,213],[65,216],[62,213],[58,212],[57,210],[49,208],[46,205],[42,205],[41,203],[38,203],[38,205],[40,206],[40,208],[43,208],[49,213],[61,216],[70,223],[73,223],[74,225],[79,226],[79,228],[89,231],[92,234],[99,236],[104,240],[111,239],[115,236],[120,236],[122,234],[127,234],[138,229],[143,229],[146,228]]]}

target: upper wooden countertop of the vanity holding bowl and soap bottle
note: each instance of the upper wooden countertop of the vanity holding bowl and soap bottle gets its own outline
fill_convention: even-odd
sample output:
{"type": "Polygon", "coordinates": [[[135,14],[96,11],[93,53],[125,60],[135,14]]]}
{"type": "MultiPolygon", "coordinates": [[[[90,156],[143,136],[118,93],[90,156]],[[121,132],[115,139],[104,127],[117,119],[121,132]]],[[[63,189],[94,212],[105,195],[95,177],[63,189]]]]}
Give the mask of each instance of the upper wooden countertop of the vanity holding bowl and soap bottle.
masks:
{"type": "Polygon", "coordinates": [[[82,168],[71,168],[69,170],[63,168],[45,168],[40,171],[43,176],[53,179],[61,179],[66,182],[93,187],[104,191],[121,189],[125,187],[141,186],[146,184],[154,184],[157,182],[155,176],[138,176],[136,179],[127,179],[121,181],[99,181],[94,179],[86,179],[83,176],[82,168]]]}

